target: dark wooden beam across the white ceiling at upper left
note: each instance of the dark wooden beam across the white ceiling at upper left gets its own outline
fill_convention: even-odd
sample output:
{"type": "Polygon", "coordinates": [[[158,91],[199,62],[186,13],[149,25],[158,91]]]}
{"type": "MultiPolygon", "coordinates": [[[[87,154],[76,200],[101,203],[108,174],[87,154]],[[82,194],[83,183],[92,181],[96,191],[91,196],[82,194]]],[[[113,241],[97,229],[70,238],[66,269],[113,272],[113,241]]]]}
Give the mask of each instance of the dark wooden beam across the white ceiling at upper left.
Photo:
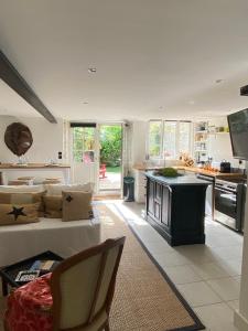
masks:
{"type": "Polygon", "coordinates": [[[0,50],[0,78],[14,89],[28,104],[37,110],[50,122],[57,122],[53,114],[45,107],[25,79],[19,74],[0,50]]]}

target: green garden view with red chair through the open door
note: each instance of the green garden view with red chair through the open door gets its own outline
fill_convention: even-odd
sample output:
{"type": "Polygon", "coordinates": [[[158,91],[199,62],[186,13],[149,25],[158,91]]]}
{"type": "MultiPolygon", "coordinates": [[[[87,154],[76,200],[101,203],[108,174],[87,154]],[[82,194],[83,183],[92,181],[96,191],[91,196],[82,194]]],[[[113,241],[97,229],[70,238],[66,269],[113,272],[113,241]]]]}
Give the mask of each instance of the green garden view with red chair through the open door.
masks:
{"type": "Polygon", "coordinates": [[[122,126],[99,125],[99,191],[120,191],[122,179],[122,126]]]}

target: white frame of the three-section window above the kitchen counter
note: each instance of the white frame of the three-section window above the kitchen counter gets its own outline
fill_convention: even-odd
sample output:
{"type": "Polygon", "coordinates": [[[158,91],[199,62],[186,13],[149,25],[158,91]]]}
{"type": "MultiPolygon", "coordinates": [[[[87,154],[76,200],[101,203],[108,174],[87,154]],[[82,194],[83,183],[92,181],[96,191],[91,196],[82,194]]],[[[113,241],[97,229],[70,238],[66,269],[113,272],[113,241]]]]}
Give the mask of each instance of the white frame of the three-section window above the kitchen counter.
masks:
{"type": "Polygon", "coordinates": [[[175,158],[180,157],[179,146],[180,146],[180,122],[188,122],[190,125],[190,141],[188,141],[188,153],[192,156],[192,141],[193,141],[193,122],[190,120],[166,120],[166,119],[150,119],[148,121],[148,130],[147,130],[147,159],[149,160],[165,160],[164,157],[164,124],[165,122],[176,122],[176,140],[175,140],[175,158]],[[160,154],[159,157],[150,156],[150,122],[152,121],[161,121],[161,145],[160,145],[160,154]]]}

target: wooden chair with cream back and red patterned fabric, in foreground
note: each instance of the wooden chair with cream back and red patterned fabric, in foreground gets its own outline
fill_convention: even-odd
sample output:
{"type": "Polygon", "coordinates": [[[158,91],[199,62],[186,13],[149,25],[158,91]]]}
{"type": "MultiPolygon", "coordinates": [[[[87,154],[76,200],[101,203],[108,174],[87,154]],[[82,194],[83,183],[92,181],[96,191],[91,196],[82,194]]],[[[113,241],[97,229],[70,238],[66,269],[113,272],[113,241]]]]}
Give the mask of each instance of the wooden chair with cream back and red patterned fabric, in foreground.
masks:
{"type": "MultiPolygon", "coordinates": [[[[125,237],[107,239],[98,246],[88,248],[62,261],[52,273],[51,279],[45,282],[46,287],[47,282],[50,284],[53,303],[42,305],[40,308],[37,308],[37,305],[33,305],[35,311],[24,309],[28,318],[33,316],[35,325],[35,329],[26,328],[26,330],[40,330],[37,328],[40,314],[43,319],[42,331],[109,331],[109,312],[125,239],[125,237]],[[45,321],[44,316],[47,317],[45,321]]],[[[44,280],[37,278],[28,286],[33,285],[34,281],[41,282],[44,280]]],[[[41,284],[39,289],[41,289],[41,284]]],[[[17,293],[17,305],[22,302],[20,291],[21,288],[11,295],[17,293]],[[18,291],[19,293],[17,293],[18,291]]],[[[43,289],[43,297],[44,292],[43,289]]],[[[11,309],[14,310],[13,303],[12,300],[10,307],[8,307],[4,330],[22,331],[23,319],[21,328],[12,327],[17,324],[17,317],[11,316],[11,309]],[[13,321],[12,324],[11,320],[13,321]]],[[[26,307],[31,306],[26,305],[26,307]]],[[[29,320],[28,322],[26,324],[32,324],[29,320]]]]}

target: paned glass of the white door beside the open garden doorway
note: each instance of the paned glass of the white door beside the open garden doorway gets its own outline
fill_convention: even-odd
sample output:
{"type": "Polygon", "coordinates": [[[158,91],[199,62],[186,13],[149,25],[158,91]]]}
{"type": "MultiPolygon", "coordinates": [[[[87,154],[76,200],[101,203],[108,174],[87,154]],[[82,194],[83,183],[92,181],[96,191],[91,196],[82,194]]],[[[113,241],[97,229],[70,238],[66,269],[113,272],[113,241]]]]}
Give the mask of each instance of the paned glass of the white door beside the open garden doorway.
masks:
{"type": "Polygon", "coordinates": [[[73,160],[74,162],[94,162],[95,128],[73,128],[73,160]]]}

